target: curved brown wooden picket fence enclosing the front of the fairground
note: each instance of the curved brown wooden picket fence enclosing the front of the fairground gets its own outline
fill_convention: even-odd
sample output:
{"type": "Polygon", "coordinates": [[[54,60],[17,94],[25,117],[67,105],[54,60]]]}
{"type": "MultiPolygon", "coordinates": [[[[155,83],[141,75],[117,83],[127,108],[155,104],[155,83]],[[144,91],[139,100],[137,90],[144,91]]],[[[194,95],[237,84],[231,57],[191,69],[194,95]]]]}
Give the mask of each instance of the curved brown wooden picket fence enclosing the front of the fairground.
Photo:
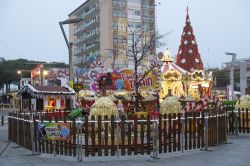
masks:
{"type": "MultiPolygon", "coordinates": [[[[65,156],[115,156],[169,153],[214,146],[226,140],[223,111],[186,112],[126,120],[124,116],[84,117],[77,121],[48,121],[33,114],[9,114],[9,139],[38,153],[65,156]],[[67,138],[41,136],[41,126],[51,122],[67,126],[67,138]],[[207,128],[205,128],[207,122],[207,128]],[[207,144],[206,144],[207,143],[207,144]]],[[[55,134],[56,132],[54,132],[55,134]]]]}

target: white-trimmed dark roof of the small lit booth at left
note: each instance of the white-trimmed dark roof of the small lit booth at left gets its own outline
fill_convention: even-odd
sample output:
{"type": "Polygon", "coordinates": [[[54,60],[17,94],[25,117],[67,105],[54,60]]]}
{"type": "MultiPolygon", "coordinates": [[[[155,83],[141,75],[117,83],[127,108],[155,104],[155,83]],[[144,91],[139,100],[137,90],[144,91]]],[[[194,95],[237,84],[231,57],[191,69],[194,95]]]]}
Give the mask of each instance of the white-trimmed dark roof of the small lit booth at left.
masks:
{"type": "Polygon", "coordinates": [[[32,86],[30,84],[24,85],[17,93],[28,93],[33,97],[39,97],[41,95],[75,95],[76,92],[69,86],[32,86]]]}

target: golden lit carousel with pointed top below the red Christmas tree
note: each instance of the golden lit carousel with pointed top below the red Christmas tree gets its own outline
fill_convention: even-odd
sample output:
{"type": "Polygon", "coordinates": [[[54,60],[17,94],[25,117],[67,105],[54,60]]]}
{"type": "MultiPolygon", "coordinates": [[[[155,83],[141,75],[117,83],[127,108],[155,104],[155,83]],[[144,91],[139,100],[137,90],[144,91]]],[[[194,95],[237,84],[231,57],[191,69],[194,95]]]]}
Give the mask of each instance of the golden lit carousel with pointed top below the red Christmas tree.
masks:
{"type": "Polygon", "coordinates": [[[162,56],[160,97],[192,96],[199,99],[201,95],[210,95],[212,73],[203,70],[189,72],[174,63],[169,49],[162,56]]]}

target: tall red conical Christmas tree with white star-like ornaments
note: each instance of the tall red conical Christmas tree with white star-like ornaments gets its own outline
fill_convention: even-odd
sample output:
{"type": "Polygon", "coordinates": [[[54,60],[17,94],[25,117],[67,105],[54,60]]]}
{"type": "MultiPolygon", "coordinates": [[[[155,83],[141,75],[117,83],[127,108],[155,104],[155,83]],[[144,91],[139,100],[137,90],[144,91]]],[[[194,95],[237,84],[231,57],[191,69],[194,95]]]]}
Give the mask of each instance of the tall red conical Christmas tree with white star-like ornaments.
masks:
{"type": "Polygon", "coordinates": [[[193,28],[190,23],[188,8],[186,16],[186,25],[183,28],[181,44],[179,46],[176,64],[189,72],[204,69],[198,51],[198,45],[193,34],[193,28]]]}

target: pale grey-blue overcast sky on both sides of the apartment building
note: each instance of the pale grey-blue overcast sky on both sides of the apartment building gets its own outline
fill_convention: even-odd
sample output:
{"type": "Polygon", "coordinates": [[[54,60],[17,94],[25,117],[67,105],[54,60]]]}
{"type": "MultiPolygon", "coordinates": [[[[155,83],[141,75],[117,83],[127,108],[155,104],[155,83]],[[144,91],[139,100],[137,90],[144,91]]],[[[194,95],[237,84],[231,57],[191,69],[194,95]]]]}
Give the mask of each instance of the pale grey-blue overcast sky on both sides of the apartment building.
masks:
{"type": "MultiPolygon", "coordinates": [[[[0,0],[0,57],[68,63],[59,21],[84,0],[0,0]]],[[[166,47],[178,52],[189,6],[199,52],[205,67],[220,67],[235,52],[250,58],[249,0],[158,0],[157,29],[166,47]]],[[[163,51],[165,48],[159,49],[163,51]]]]}

